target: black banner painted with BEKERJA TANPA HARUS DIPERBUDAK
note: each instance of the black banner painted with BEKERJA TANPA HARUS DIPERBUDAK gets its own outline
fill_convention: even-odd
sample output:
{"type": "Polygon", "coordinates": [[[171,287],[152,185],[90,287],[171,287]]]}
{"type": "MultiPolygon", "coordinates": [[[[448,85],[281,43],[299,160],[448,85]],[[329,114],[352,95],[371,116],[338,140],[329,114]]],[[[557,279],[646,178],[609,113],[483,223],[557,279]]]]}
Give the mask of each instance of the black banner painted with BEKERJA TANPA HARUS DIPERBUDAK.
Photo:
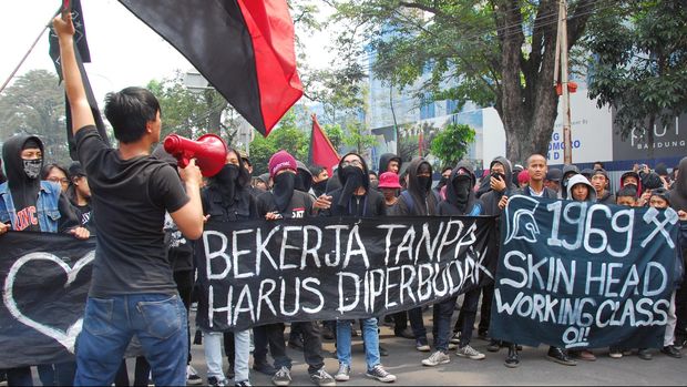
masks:
{"type": "Polygon", "coordinates": [[[433,304],[493,281],[494,233],[483,216],[208,223],[197,322],[240,330],[433,304]]]}

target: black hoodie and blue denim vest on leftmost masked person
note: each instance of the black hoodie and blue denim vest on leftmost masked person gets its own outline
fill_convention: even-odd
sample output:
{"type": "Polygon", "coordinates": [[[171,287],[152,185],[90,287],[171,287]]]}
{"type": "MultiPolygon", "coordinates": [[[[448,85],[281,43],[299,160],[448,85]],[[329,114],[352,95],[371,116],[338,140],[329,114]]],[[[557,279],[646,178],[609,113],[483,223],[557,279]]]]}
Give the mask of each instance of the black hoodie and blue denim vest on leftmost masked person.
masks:
{"type": "Polygon", "coordinates": [[[9,223],[14,231],[47,233],[79,226],[79,218],[57,183],[29,179],[24,173],[21,151],[30,140],[44,154],[43,143],[34,135],[16,135],[2,145],[8,181],[0,184],[0,222],[9,223]]]}

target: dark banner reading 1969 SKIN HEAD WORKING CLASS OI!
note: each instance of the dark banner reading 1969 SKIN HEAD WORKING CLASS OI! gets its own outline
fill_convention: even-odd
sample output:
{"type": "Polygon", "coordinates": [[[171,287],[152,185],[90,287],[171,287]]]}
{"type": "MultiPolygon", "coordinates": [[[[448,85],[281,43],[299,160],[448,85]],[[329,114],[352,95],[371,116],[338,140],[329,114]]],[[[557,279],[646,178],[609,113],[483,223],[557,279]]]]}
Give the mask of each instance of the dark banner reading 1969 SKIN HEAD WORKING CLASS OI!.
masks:
{"type": "Polygon", "coordinates": [[[673,210],[513,196],[502,216],[492,337],[662,347],[677,222],[673,210]]]}

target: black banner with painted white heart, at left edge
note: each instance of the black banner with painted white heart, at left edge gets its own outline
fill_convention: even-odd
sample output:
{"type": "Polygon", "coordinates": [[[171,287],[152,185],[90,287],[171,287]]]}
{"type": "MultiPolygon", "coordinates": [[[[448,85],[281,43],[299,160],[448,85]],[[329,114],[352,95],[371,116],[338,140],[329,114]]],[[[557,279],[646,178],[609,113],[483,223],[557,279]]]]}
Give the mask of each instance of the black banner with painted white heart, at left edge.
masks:
{"type": "Polygon", "coordinates": [[[0,368],[73,359],[95,238],[9,232],[0,257],[0,368]]]}

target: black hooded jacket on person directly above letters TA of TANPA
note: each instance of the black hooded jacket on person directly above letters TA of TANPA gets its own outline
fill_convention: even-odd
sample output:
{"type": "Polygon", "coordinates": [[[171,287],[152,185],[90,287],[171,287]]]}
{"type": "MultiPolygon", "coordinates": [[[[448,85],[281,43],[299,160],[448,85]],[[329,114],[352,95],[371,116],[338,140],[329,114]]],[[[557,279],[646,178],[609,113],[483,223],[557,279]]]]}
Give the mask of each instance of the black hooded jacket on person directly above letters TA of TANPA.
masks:
{"type": "MultiPolygon", "coordinates": [[[[408,164],[408,189],[401,193],[399,201],[391,207],[391,213],[397,216],[418,215],[428,216],[437,215],[439,207],[439,197],[431,189],[431,186],[420,187],[418,180],[418,173],[420,165],[428,164],[423,157],[414,157],[410,164],[408,164]],[[406,204],[407,195],[412,201],[412,211],[408,204],[406,204]]],[[[430,184],[431,185],[431,184],[430,184]]]]}

